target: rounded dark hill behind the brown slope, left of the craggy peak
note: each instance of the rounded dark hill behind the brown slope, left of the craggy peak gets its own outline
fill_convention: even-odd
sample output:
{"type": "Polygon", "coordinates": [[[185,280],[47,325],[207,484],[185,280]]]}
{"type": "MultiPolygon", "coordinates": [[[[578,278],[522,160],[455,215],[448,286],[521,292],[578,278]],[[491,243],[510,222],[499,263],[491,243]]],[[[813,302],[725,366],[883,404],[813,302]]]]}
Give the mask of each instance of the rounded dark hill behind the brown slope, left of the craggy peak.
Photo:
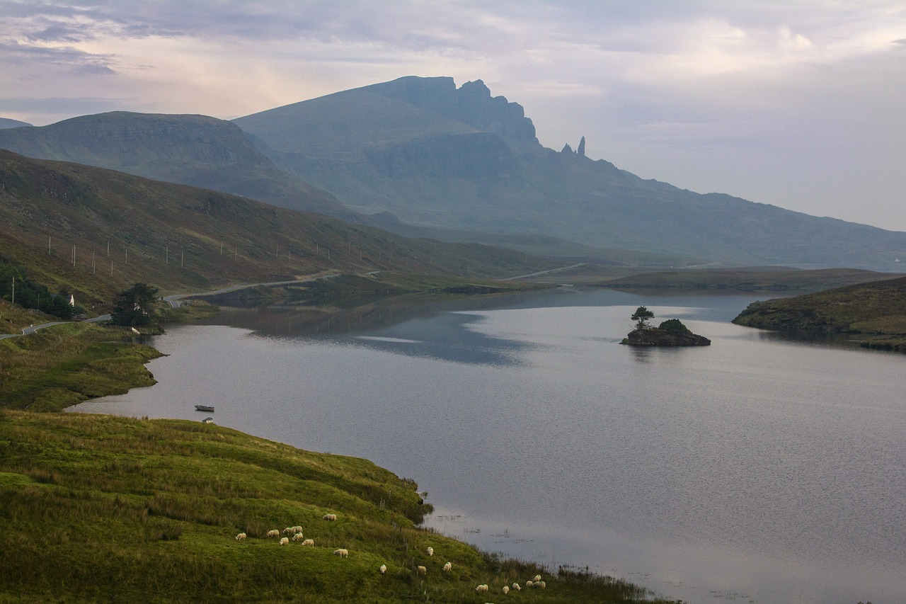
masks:
{"type": "Polygon", "coordinates": [[[357,219],[330,193],[279,170],[235,124],[205,115],[85,115],[49,126],[2,130],[0,149],[357,219]]]}

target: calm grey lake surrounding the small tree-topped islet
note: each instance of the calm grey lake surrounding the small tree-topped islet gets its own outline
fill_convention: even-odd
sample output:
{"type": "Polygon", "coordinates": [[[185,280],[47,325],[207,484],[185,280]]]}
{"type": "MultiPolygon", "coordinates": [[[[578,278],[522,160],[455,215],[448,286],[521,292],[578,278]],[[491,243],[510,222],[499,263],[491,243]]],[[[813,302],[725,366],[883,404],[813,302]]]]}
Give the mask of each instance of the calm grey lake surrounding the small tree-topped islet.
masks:
{"type": "Polygon", "coordinates": [[[729,323],[759,297],[232,309],[154,338],[158,385],[74,409],[214,404],[217,424],[415,479],[453,537],[669,598],[906,601],[906,356],[729,323]],[[712,346],[620,346],[641,305],[712,346]]]}

